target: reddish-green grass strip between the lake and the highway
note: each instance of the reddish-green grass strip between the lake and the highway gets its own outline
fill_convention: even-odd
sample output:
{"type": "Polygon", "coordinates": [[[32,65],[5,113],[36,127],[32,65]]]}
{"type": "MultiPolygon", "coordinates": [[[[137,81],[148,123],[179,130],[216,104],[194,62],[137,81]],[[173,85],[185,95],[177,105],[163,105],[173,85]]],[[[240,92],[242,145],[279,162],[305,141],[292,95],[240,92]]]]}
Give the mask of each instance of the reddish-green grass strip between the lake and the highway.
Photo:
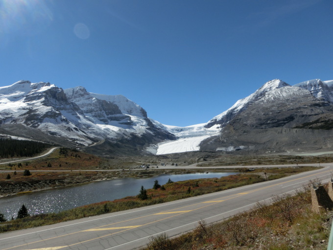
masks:
{"type": "MultiPolygon", "coordinates": [[[[318,169],[318,168],[313,168],[318,169]]],[[[312,169],[312,170],[313,170],[312,169]]],[[[287,172],[289,170],[286,170],[287,172]]],[[[31,175],[32,176],[32,175],[31,175]]],[[[29,176],[30,177],[30,176],[29,176]]],[[[180,200],[198,195],[218,192],[226,189],[236,188],[248,184],[265,181],[262,175],[238,174],[221,178],[194,179],[164,184],[158,189],[147,189],[149,199],[140,200],[137,197],[125,197],[119,200],[103,201],[89,204],[59,213],[40,214],[28,216],[22,219],[15,219],[0,223],[0,232],[30,228],[41,225],[50,225],[64,221],[80,219],[105,213],[123,211],[163,202],[180,200]],[[189,191],[190,187],[190,192],[189,191]]],[[[153,186],[153,183],[152,183],[153,186]]],[[[138,190],[139,194],[139,190],[138,190]]]]}

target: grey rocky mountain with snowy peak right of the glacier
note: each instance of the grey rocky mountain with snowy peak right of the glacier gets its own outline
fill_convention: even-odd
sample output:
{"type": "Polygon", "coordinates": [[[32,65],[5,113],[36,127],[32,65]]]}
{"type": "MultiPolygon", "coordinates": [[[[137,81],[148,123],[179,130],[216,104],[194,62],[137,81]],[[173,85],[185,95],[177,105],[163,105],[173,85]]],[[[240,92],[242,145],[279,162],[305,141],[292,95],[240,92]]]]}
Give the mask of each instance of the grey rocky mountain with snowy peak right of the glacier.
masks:
{"type": "Polygon", "coordinates": [[[206,126],[220,125],[219,136],[201,150],[268,152],[333,149],[332,86],[311,80],[290,86],[269,81],[239,100],[206,126]]]}

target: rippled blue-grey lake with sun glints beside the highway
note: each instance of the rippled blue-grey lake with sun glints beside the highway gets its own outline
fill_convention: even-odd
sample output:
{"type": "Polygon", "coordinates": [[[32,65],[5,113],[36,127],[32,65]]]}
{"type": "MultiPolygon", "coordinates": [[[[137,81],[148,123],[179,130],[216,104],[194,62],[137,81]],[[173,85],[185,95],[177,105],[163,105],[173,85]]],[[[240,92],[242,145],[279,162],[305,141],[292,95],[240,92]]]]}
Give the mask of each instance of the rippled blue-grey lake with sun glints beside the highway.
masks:
{"type": "Polygon", "coordinates": [[[6,219],[17,217],[22,204],[28,209],[30,215],[51,213],[67,210],[77,206],[87,205],[104,200],[116,200],[126,196],[139,194],[141,186],[150,189],[154,181],[160,185],[166,184],[170,178],[172,181],[181,181],[200,178],[219,178],[237,173],[196,173],[185,175],[159,175],[150,178],[119,178],[112,180],[94,181],[88,184],[70,187],[55,188],[36,191],[22,195],[14,195],[0,198],[0,213],[6,219]]]}

